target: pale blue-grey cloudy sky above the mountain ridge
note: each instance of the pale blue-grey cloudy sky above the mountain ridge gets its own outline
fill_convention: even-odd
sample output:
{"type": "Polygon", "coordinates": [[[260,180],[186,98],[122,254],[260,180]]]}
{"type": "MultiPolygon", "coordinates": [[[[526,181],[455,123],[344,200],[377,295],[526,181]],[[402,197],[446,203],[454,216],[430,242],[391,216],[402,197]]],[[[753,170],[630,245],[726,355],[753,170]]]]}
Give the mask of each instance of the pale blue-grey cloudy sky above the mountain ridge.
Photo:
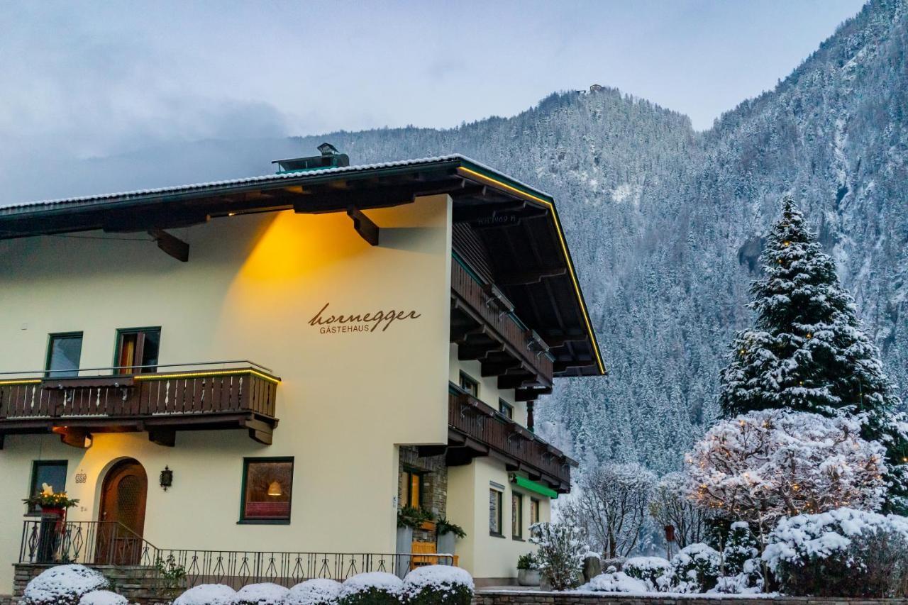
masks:
{"type": "Polygon", "coordinates": [[[862,4],[5,2],[0,161],[445,127],[593,83],[702,129],[774,86],[862,4]]]}

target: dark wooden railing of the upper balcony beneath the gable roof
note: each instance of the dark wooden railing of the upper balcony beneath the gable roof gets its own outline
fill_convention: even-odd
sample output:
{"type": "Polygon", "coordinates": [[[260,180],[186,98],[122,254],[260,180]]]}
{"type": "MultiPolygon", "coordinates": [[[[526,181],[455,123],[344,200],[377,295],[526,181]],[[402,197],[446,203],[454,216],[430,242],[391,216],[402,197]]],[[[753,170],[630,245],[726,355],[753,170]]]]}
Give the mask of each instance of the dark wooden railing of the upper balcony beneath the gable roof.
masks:
{"type": "MultiPolygon", "coordinates": [[[[551,386],[554,364],[546,343],[518,320],[513,305],[497,288],[491,284],[479,283],[457,258],[451,262],[451,293],[463,311],[469,313],[476,324],[484,329],[479,334],[479,339],[491,337],[494,342],[503,345],[501,354],[509,354],[518,359],[518,366],[508,370],[515,372],[513,375],[517,377],[516,382],[502,384],[503,388],[514,388],[524,382],[551,386]]],[[[459,344],[461,351],[477,349],[466,342],[459,344]]],[[[480,345],[477,358],[488,357],[488,351],[494,346],[489,344],[489,349],[483,350],[480,345]]],[[[505,363],[502,367],[507,365],[505,363]]]]}

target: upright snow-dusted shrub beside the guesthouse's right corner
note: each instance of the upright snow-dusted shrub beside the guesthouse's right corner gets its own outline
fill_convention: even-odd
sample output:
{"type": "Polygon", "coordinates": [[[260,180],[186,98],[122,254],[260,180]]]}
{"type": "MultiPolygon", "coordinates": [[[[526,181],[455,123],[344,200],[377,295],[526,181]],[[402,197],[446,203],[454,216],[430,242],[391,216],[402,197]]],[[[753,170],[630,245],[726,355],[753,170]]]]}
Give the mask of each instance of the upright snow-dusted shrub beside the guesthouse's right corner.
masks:
{"type": "Polygon", "coordinates": [[[536,523],[530,531],[542,576],[554,590],[575,586],[588,550],[583,531],[566,523],[536,523]]]}

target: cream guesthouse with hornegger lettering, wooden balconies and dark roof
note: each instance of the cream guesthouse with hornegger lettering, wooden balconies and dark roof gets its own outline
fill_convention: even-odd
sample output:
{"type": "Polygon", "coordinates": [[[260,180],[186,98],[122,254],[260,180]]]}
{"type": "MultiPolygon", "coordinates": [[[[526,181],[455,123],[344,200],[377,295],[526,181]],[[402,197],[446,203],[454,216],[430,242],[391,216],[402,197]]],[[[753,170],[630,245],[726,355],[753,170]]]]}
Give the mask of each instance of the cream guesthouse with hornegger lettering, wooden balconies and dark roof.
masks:
{"type": "Polygon", "coordinates": [[[0,593],[62,556],[390,567],[410,504],[480,581],[516,575],[574,464],[533,402],[605,372],[553,200],[459,155],[322,152],[0,208],[0,593]],[[22,502],[44,484],[79,501],[65,529],[22,502]]]}

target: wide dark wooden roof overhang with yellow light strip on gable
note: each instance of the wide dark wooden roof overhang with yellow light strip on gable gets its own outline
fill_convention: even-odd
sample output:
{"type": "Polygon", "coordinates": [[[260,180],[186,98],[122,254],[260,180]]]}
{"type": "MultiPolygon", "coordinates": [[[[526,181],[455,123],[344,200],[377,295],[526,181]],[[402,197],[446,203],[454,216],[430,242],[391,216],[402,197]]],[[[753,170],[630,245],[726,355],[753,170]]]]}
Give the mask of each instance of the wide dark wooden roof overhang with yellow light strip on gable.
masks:
{"type": "Polygon", "coordinates": [[[361,211],[437,193],[454,200],[455,252],[479,259],[483,276],[548,343],[555,375],[604,374],[554,200],[461,155],[5,206],[0,239],[160,233],[234,214],[361,211]]]}

